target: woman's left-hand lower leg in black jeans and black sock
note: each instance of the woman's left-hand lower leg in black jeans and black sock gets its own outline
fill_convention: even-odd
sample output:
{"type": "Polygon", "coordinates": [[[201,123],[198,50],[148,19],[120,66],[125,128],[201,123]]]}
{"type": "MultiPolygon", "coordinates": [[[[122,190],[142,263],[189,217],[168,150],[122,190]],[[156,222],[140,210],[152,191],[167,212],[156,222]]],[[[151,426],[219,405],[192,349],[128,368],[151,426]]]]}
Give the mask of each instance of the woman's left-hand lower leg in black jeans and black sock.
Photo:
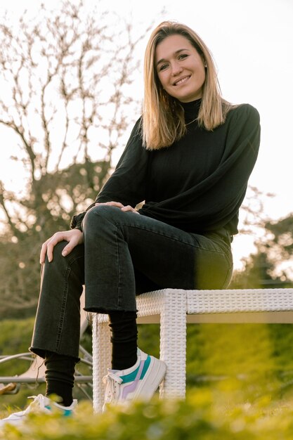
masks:
{"type": "Polygon", "coordinates": [[[58,394],[64,406],[72,403],[74,366],[79,361],[80,296],[84,284],[84,246],[67,256],[67,242],[54,248],[46,260],[30,351],[45,359],[46,396],[58,394]]]}

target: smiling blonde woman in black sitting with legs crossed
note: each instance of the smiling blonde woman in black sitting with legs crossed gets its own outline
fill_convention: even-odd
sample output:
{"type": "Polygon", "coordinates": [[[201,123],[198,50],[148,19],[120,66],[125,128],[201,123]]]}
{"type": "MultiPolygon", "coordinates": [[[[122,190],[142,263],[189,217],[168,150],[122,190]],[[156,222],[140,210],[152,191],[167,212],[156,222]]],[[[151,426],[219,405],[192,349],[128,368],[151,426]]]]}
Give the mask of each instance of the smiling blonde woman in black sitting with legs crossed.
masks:
{"type": "MultiPolygon", "coordinates": [[[[46,364],[34,407],[68,413],[79,361],[79,297],[108,313],[112,365],[105,403],[150,399],[168,365],[137,347],[136,295],[164,287],[227,287],[238,211],[259,150],[259,114],[221,97],[207,46],[162,22],[145,51],[143,115],[115,172],[71,230],[44,242],[30,350],[46,364]],[[136,206],[144,202],[140,209],[136,206]],[[60,403],[48,396],[58,394],[60,403]]],[[[19,423],[32,406],[4,422],[19,423]]]]}

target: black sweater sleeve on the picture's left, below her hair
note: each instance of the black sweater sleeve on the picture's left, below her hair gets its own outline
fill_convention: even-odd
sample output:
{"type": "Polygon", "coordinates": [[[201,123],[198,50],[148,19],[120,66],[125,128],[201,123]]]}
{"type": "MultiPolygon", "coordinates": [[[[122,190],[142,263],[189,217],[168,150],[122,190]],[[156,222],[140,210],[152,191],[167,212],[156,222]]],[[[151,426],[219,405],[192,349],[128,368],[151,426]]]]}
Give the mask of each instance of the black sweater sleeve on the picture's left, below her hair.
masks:
{"type": "Polygon", "coordinates": [[[140,124],[141,119],[138,119],[115,171],[98,193],[95,202],[85,212],[72,217],[71,228],[82,231],[82,220],[86,212],[97,202],[114,201],[120,202],[122,205],[136,207],[145,199],[149,153],[142,145],[140,124]]]}

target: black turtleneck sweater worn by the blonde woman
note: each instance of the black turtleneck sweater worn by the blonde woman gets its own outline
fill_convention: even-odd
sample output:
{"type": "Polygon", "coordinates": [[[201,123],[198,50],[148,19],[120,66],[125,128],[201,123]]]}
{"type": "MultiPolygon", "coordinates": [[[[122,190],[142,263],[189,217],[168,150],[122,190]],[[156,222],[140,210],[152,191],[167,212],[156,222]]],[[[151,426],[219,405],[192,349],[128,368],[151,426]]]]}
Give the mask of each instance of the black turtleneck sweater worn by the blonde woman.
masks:
{"type": "MultiPolygon", "coordinates": [[[[238,211],[259,151],[259,113],[249,104],[232,108],[214,131],[193,121],[201,100],[181,103],[187,133],[161,150],[146,150],[136,122],[115,172],[96,202],[121,202],[139,213],[192,233],[226,228],[237,233],[238,211]]],[[[93,206],[93,205],[91,205],[93,206]]],[[[71,227],[82,230],[84,214],[71,227]]]]}

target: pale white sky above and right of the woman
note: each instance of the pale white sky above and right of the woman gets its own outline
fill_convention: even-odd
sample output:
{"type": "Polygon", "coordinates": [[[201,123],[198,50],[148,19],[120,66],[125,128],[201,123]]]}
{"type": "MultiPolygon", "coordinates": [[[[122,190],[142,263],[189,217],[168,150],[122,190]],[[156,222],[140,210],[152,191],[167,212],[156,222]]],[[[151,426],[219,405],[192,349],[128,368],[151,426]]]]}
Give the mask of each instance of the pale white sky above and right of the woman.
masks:
{"type": "MultiPolygon", "coordinates": [[[[1,1],[0,14],[8,9],[18,15],[40,3],[1,1]]],[[[60,1],[43,3],[52,7],[60,1]]],[[[91,6],[98,1],[87,3],[91,6]]],[[[138,33],[152,22],[155,27],[162,20],[177,20],[200,34],[216,60],[224,98],[250,103],[261,115],[261,148],[249,183],[264,193],[275,194],[265,203],[265,212],[272,219],[293,213],[293,0],[102,0],[100,4],[105,10],[131,18],[138,33]]],[[[141,60],[147,40],[145,35],[141,60]]],[[[137,84],[141,97],[142,84],[141,78],[137,84]]],[[[0,179],[9,167],[6,157],[2,146],[0,179]]],[[[240,266],[242,255],[252,250],[251,241],[235,239],[235,266],[240,266]]]]}

